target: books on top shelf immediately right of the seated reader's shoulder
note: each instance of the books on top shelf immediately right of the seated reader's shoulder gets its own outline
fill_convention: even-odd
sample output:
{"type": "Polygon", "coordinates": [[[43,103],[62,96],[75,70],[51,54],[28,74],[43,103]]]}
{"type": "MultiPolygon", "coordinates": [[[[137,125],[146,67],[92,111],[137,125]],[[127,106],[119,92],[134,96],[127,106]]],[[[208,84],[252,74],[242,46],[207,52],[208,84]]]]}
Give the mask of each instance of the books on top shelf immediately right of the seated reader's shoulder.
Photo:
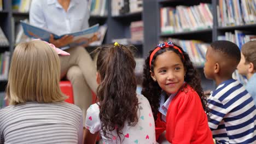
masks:
{"type": "Polygon", "coordinates": [[[106,16],[108,14],[108,0],[89,0],[91,16],[106,16]]]}

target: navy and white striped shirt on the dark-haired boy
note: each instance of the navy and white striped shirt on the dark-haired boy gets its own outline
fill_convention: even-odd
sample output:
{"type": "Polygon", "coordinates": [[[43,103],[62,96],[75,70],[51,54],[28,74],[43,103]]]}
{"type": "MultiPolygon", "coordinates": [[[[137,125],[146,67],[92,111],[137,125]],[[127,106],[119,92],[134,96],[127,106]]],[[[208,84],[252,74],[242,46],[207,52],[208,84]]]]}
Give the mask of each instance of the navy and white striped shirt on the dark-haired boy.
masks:
{"type": "Polygon", "coordinates": [[[240,82],[222,82],[208,98],[208,107],[208,124],[217,143],[255,143],[255,104],[240,82]]]}

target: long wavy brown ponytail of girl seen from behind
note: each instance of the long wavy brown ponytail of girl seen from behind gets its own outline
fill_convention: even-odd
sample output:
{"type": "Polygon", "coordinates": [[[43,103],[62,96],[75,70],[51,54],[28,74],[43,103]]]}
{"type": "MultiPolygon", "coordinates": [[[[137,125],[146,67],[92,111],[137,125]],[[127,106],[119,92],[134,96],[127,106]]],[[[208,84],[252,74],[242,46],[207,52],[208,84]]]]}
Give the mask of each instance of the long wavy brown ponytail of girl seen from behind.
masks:
{"type": "Polygon", "coordinates": [[[101,76],[101,83],[97,88],[101,129],[108,138],[108,131],[116,130],[121,142],[125,122],[129,125],[138,122],[134,72],[136,62],[131,46],[106,45],[99,47],[96,52],[97,71],[101,76]]]}

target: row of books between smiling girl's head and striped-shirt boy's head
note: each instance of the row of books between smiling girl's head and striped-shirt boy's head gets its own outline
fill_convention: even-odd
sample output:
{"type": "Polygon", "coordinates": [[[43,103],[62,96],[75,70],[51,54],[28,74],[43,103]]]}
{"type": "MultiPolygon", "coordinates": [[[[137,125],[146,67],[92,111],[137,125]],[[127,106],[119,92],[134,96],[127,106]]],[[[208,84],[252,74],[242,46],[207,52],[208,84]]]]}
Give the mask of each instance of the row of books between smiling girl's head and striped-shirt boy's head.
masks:
{"type": "Polygon", "coordinates": [[[203,65],[205,65],[206,51],[210,47],[210,44],[203,43],[199,40],[180,40],[172,38],[160,40],[160,43],[164,41],[172,41],[181,46],[183,50],[188,53],[195,67],[203,67],[203,65]]]}

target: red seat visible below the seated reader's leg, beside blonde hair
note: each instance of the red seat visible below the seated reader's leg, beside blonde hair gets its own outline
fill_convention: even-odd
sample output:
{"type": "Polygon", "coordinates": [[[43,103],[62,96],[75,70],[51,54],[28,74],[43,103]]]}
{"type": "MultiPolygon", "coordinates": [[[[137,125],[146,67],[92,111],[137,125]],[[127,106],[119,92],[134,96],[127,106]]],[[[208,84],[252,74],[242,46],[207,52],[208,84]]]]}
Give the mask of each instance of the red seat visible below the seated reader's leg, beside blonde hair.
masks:
{"type": "Polygon", "coordinates": [[[73,88],[70,81],[61,81],[60,82],[61,92],[66,94],[68,98],[65,100],[67,103],[74,104],[74,97],[73,97],[73,88]]]}

